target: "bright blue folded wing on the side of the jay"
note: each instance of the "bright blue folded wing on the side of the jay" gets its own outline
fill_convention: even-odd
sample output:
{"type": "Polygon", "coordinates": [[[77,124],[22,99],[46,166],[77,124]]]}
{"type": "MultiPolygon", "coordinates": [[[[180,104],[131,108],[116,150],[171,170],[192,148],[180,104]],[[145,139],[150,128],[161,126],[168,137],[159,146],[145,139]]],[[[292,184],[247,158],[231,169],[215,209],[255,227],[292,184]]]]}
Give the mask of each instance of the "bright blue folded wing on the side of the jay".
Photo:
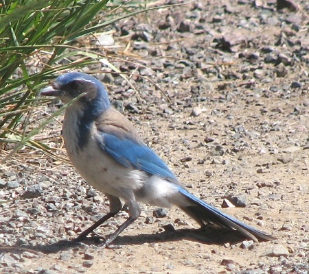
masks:
{"type": "Polygon", "coordinates": [[[120,164],[178,182],[168,166],[146,145],[112,134],[103,134],[103,138],[104,142],[99,143],[100,148],[120,164]]]}

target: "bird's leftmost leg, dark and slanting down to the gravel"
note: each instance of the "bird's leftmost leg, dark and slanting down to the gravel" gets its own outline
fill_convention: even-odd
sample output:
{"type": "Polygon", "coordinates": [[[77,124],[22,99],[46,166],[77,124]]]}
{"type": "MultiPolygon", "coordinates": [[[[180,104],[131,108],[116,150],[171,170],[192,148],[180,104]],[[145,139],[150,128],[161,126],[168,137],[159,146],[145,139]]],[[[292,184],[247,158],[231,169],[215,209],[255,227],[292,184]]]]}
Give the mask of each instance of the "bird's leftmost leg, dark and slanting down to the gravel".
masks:
{"type": "Polygon", "coordinates": [[[122,203],[119,200],[119,198],[111,196],[111,195],[106,195],[106,196],[109,200],[109,210],[110,210],[110,212],[108,212],[108,214],[104,215],[99,221],[96,221],[93,225],[91,225],[91,227],[84,230],[77,238],[74,239],[76,242],[80,242],[80,241],[84,240],[89,233],[93,232],[94,229],[96,229],[97,227],[102,225],[102,223],[104,223],[108,219],[111,219],[111,217],[115,216],[119,212],[119,210],[121,210],[122,203]]]}

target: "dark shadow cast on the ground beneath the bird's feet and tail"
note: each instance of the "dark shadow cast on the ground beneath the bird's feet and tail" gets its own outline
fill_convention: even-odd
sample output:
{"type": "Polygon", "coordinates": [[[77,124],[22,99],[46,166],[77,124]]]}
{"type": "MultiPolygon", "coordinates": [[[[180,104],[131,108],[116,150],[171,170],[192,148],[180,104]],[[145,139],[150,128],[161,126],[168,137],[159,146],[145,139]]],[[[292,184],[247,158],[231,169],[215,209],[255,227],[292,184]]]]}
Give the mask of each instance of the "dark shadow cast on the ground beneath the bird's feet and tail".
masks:
{"type": "MultiPolygon", "coordinates": [[[[135,236],[118,236],[113,241],[113,247],[122,247],[126,245],[143,245],[145,243],[153,242],[175,242],[180,240],[190,240],[192,242],[201,242],[206,245],[223,245],[229,242],[231,245],[244,240],[237,231],[226,229],[177,229],[174,231],[164,231],[155,234],[139,234],[135,236]]],[[[47,243],[45,245],[23,245],[19,246],[2,246],[0,253],[23,253],[24,251],[34,251],[41,253],[58,253],[69,249],[80,247],[88,247],[90,245],[97,245],[98,247],[104,245],[104,238],[93,236],[87,237],[82,242],[75,240],[60,240],[54,243],[47,243]]]]}

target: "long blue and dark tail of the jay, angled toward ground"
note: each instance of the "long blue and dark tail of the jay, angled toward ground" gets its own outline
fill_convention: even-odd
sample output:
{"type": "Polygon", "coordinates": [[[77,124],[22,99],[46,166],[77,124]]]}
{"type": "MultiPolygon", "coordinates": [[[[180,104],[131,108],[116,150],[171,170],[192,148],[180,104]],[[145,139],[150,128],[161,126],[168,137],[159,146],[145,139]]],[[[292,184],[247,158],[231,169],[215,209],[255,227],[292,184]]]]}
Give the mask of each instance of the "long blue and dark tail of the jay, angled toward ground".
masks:
{"type": "Polygon", "coordinates": [[[225,227],[228,229],[235,229],[242,233],[247,238],[258,242],[259,240],[274,240],[275,237],[262,232],[259,229],[255,229],[250,225],[246,225],[238,219],[233,218],[220,210],[217,210],[208,203],[205,203],[201,199],[198,199],[194,195],[187,192],[187,190],[180,188],[180,192],[189,201],[190,206],[179,206],[184,212],[190,215],[199,225],[204,227],[207,224],[217,225],[219,227],[225,227]]]}

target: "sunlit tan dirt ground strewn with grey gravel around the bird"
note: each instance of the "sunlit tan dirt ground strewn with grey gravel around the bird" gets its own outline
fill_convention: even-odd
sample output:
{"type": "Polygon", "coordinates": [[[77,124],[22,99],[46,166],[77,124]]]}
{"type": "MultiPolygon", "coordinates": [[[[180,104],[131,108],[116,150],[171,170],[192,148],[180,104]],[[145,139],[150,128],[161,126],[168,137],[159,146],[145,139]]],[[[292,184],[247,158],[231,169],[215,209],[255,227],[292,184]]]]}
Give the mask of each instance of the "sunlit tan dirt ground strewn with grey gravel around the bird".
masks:
{"type": "MultiPolygon", "coordinates": [[[[24,148],[1,166],[0,199],[15,200],[0,207],[0,272],[308,273],[309,4],[295,6],[203,0],[139,14],[113,26],[115,42],[105,47],[123,54],[110,61],[133,73],[137,92],[105,66],[89,69],[184,186],[276,240],[199,232],[177,208],[157,217],[141,205],[115,240],[119,248],[74,244],[68,240],[108,212],[108,201],[69,162],[24,148]],[[244,207],[224,208],[233,197],[244,207]]],[[[34,120],[56,109],[44,105],[34,120]]],[[[36,138],[65,158],[61,121],[36,138]]],[[[126,217],[120,212],[96,235],[126,217]]]]}

